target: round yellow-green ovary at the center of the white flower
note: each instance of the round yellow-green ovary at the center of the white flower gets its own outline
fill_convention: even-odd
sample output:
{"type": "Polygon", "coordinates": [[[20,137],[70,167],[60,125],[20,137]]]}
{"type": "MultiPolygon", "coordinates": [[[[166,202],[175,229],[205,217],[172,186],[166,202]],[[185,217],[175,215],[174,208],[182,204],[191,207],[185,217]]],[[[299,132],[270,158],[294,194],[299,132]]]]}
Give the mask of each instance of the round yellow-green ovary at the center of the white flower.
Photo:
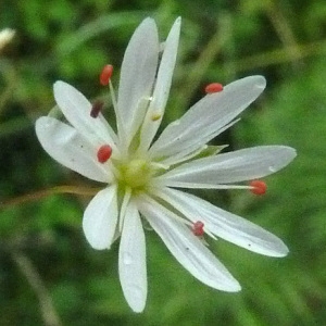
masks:
{"type": "Polygon", "coordinates": [[[135,159],[118,167],[118,184],[128,186],[131,189],[142,189],[151,179],[153,170],[149,162],[141,159],[135,159]]]}

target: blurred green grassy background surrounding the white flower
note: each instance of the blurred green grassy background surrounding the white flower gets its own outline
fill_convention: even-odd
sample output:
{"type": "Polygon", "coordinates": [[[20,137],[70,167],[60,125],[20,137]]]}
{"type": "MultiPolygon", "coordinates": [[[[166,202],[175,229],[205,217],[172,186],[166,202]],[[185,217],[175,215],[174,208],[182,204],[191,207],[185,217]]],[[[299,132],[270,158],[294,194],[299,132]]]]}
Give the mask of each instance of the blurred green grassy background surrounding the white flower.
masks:
{"type": "Polygon", "coordinates": [[[0,53],[0,325],[326,325],[324,0],[1,0],[4,27],[16,36],[0,53]],[[263,96],[215,143],[288,145],[298,158],[266,179],[264,197],[201,192],[284,239],[287,258],[210,242],[242,285],[239,293],[224,293],[197,281],[147,231],[148,303],[134,314],[120,287],[118,241],[95,251],[84,238],[90,197],[15,200],[90,185],[47,155],[34,122],[54,105],[58,79],[95,99],[105,93],[99,73],[112,63],[117,86],[124,49],[148,15],[162,40],[183,16],[165,124],[200,99],[205,84],[262,74],[263,96]]]}

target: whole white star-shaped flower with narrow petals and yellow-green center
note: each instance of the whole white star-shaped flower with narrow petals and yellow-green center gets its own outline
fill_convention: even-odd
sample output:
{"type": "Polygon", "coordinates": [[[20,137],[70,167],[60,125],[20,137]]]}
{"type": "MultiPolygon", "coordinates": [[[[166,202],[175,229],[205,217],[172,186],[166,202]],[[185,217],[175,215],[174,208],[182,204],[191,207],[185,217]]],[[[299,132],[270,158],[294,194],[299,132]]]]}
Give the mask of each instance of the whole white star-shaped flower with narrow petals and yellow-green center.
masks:
{"type": "Polygon", "coordinates": [[[63,82],[54,84],[54,98],[70,124],[50,116],[36,122],[37,137],[54,160],[105,184],[88,204],[83,228],[91,247],[99,250],[109,249],[121,237],[120,279],[135,312],[143,310],[147,298],[142,220],[186,269],[218,290],[239,291],[240,285],[193,231],[198,221],[212,238],[265,255],[288,253],[284,242],[271,233],[175,189],[250,189],[237,183],[267,176],[296,156],[296,151],[285,146],[217,153],[217,148],[210,151],[205,145],[260,96],[265,88],[262,76],[208,93],[153,141],[170,92],[180,22],[177,18],[174,23],[163,53],[153,20],[145,20],[133,35],[122,64],[116,103],[113,97],[116,133],[102,113],[91,116],[92,104],[63,82]]]}

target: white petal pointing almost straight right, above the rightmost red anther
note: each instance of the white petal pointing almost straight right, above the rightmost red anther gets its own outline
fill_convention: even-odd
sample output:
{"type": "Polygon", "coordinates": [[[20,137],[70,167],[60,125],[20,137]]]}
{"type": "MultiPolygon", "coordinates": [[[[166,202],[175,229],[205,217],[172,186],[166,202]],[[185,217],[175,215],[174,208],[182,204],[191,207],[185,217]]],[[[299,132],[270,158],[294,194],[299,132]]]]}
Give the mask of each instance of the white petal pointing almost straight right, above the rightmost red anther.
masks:
{"type": "Polygon", "coordinates": [[[253,147],[181,164],[161,179],[166,186],[183,188],[252,180],[279,171],[296,155],[286,146],[253,147]]]}

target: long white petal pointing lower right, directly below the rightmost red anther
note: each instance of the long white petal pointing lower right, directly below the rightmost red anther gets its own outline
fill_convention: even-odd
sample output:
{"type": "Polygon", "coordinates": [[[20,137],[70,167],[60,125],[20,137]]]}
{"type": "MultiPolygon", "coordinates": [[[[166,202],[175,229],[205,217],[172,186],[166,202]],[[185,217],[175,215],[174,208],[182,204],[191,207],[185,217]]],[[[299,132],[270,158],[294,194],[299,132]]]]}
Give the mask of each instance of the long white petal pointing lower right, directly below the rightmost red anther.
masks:
{"type": "Polygon", "coordinates": [[[197,216],[206,229],[229,242],[269,256],[285,256],[289,252],[273,234],[193,195],[168,188],[162,188],[156,195],[186,216],[197,216]]]}

